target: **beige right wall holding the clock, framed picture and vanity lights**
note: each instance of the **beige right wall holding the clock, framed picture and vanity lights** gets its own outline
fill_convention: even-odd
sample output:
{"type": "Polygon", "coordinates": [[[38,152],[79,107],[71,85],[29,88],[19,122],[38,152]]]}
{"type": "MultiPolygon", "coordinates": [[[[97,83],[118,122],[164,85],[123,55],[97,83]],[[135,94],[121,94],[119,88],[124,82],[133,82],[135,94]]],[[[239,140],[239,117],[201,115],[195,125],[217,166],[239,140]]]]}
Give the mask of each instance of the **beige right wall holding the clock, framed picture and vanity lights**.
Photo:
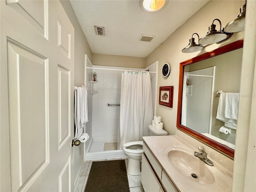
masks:
{"type": "MultiPolygon", "coordinates": [[[[158,60],[158,87],[159,86],[174,86],[173,108],[157,105],[156,114],[161,116],[161,121],[164,123],[164,129],[168,134],[176,132],[176,118],[178,105],[178,83],[179,83],[179,65],[180,62],[193,58],[204,52],[214,50],[220,46],[229,44],[236,40],[244,38],[244,32],[235,33],[229,40],[222,44],[212,44],[204,46],[204,48],[195,53],[182,53],[181,50],[189,43],[193,33],[198,33],[200,37],[204,36],[208,31],[208,27],[212,24],[215,18],[218,18],[223,23],[227,24],[237,17],[239,8],[244,4],[244,1],[210,1],[202,9],[196,12],[188,19],[180,28],[171,34],[158,48],[146,57],[146,66],[149,66],[154,61],[158,60]],[[169,63],[171,72],[167,78],[161,74],[164,63],[169,63]]],[[[216,24],[216,29],[220,26],[216,24]]],[[[196,42],[198,41],[196,39],[196,42]]]]}

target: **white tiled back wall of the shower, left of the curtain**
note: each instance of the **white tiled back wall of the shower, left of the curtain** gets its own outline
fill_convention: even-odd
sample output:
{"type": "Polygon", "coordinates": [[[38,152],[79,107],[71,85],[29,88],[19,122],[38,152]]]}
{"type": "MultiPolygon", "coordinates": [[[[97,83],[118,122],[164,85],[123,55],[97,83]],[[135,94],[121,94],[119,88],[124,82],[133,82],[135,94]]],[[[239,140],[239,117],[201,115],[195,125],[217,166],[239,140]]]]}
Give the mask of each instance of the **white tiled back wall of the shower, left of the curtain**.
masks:
{"type": "Polygon", "coordinates": [[[97,74],[99,92],[92,95],[92,137],[116,140],[120,106],[106,104],[120,104],[122,71],[95,68],[93,72],[97,74]]]}

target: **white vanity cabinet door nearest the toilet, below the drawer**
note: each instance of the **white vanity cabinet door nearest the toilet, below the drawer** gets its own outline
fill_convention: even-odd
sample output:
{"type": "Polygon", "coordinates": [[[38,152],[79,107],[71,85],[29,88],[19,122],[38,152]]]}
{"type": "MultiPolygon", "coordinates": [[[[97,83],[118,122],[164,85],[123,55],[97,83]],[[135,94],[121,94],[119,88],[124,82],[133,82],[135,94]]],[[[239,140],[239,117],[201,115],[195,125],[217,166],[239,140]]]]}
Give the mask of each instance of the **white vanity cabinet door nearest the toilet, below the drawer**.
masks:
{"type": "Polygon", "coordinates": [[[161,185],[143,153],[141,162],[141,183],[145,192],[160,192],[161,185]]]}

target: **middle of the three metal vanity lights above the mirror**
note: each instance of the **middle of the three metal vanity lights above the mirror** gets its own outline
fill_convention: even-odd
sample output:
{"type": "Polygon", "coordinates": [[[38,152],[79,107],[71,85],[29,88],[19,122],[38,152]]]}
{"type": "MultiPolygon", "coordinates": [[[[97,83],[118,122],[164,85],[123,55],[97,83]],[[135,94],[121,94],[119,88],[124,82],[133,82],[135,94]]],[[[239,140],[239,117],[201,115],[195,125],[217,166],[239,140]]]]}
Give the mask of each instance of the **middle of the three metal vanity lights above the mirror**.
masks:
{"type": "Polygon", "coordinates": [[[205,36],[198,40],[199,44],[213,44],[213,43],[220,43],[226,41],[228,38],[232,36],[233,33],[226,33],[221,31],[221,22],[219,19],[214,19],[212,24],[209,26],[209,31],[205,36]],[[215,28],[214,21],[218,21],[220,23],[220,31],[218,32],[215,28]]]}

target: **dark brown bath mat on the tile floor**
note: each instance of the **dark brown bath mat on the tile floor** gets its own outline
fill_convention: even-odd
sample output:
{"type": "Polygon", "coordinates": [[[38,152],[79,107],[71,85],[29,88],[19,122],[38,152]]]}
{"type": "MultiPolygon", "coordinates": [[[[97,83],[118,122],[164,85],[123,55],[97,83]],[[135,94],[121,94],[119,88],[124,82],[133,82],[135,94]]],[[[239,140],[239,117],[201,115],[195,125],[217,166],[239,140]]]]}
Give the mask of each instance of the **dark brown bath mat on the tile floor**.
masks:
{"type": "Polygon", "coordinates": [[[84,192],[130,192],[125,161],[92,162],[84,192]]]}

